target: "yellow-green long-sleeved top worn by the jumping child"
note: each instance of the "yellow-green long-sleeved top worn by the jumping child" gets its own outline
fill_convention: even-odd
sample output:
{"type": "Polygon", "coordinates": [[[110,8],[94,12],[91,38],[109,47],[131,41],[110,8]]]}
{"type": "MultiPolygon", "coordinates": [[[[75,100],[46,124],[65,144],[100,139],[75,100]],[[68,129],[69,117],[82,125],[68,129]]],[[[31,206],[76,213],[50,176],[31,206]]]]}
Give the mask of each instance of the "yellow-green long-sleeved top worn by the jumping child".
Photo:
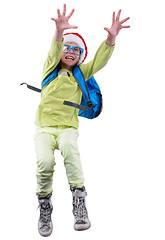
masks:
{"type": "MultiPolygon", "coordinates": [[[[56,42],[53,38],[51,49],[43,68],[45,79],[59,64],[63,51],[63,42],[56,42]]],[[[103,68],[110,59],[114,46],[107,46],[105,41],[97,50],[94,59],[87,64],[81,64],[80,68],[85,77],[92,75],[103,68]]],[[[80,104],[82,92],[71,71],[61,69],[60,74],[50,82],[41,92],[41,101],[36,113],[35,124],[39,127],[66,126],[78,128],[79,109],[63,105],[67,100],[80,104]],[[69,74],[64,75],[67,72],[69,74]]]]}

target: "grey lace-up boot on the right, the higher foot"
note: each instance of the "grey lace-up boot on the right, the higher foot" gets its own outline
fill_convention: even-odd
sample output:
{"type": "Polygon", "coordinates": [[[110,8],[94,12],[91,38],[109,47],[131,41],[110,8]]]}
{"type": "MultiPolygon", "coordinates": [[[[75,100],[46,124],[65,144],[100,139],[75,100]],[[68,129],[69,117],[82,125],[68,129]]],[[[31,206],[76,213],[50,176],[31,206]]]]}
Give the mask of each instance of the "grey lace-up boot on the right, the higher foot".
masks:
{"type": "Polygon", "coordinates": [[[88,212],[85,204],[85,197],[87,192],[85,188],[71,189],[73,195],[73,215],[74,215],[74,229],[82,231],[90,228],[91,224],[88,219],[88,212]]]}

